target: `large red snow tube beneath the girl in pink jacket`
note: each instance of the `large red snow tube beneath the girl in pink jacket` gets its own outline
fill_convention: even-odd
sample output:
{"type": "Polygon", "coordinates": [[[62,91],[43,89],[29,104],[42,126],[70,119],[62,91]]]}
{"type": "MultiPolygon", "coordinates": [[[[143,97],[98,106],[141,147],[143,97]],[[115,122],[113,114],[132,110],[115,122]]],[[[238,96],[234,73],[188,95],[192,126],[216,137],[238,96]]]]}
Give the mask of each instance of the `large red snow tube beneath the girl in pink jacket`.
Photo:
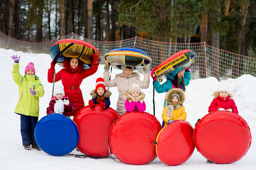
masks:
{"type": "Polygon", "coordinates": [[[110,149],[123,163],[149,163],[156,158],[154,142],[161,129],[152,114],[136,111],[122,114],[110,129],[110,149]]]}

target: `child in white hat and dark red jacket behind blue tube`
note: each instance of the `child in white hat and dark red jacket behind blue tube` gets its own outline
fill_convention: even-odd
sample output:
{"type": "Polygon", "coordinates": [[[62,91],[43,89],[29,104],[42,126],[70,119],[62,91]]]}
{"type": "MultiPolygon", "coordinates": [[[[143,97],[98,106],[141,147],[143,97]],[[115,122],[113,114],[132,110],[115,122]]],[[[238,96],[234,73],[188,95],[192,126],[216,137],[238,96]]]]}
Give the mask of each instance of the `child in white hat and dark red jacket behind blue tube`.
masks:
{"type": "Polygon", "coordinates": [[[46,113],[60,113],[70,117],[71,115],[69,113],[71,113],[74,109],[74,104],[69,103],[68,96],[65,96],[65,92],[61,85],[56,86],[54,90],[54,96],[49,102],[49,107],[46,109],[46,113]]]}

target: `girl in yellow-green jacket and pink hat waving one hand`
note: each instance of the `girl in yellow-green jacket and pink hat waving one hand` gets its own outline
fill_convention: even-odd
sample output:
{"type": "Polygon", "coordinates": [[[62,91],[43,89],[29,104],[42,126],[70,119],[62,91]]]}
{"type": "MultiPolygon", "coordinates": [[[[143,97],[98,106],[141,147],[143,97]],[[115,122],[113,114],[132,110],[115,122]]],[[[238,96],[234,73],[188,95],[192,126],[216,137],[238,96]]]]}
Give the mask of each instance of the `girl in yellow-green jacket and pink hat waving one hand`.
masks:
{"type": "Polygon", "coordinates": [[[34,63],[28,63],[25,75],[22,76],[19,73],[20,56],[11,58],[14,59],[13,80],[19,86],[19,99],[14,112],[20,115],[22,144],[26,150],[32,147],[40,151],[35,141],[34,130],[39,117],[39,97],[44,96],[44,87],[35,75],[34,63]]]}

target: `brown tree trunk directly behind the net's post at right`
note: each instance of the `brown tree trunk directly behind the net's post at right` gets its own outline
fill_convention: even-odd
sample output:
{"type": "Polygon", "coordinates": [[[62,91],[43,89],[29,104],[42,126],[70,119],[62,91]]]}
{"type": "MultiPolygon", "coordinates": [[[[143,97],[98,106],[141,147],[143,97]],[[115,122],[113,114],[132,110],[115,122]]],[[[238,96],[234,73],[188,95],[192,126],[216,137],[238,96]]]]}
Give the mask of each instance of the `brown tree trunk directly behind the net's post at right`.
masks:
{"type": "MultiPolygon", "coordinates": [[[[201,15],[201,42],[207,43],[207,14],[201,15]]],[[[205,69],[205,50],[203,49],[200,59],[200,78],[206,78],[207,70],[205,69]]]]}

